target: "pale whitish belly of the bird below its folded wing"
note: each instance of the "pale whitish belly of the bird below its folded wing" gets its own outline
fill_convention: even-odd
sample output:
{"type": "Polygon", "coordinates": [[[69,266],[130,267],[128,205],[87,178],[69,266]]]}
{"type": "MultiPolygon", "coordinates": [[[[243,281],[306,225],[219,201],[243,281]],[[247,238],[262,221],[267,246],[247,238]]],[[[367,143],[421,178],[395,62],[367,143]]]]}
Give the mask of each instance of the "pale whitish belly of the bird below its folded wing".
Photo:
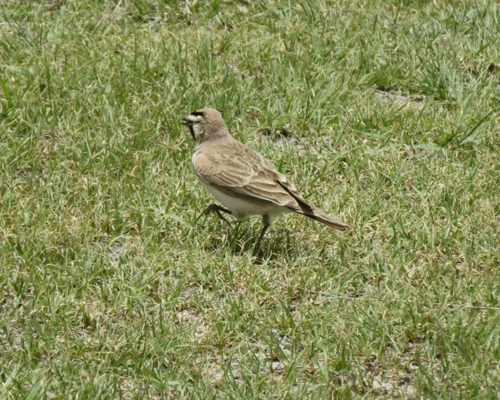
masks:
{"type": "Polygon", "coordinates": [[[210,193],[222,206],[231,210],[237,220],[244,220],[249,215],[269,215],[274,217],[283,213],[290,213],[291,211],[283,206],[269,203],[257,203],[255,201],[248,201],[238,197],[231,197],[217,190],[215,187],[208,185],[200,179],[201,185],[210,193]]]}

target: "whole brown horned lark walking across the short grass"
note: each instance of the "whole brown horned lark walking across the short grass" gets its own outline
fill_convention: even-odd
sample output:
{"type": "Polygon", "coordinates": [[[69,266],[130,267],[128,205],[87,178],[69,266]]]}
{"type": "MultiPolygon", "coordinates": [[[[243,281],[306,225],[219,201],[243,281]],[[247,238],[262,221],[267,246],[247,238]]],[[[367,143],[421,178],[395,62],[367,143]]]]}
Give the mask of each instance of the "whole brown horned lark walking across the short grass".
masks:
{"type": "Polygon", "coordinates": [[[221,211],[233,215],[236,220],[262,215],[264,227],[259,242],[273,217],[291,211],[341,231],[348,228],[343,222],[310,206],[271,162],[234,139],[219,111],[202,108],[181,120],[198,142],[192,164],[201,185],[227,207],[210,204],[206,213],[215,212],[222,220],[225,218],[221,211]]]}

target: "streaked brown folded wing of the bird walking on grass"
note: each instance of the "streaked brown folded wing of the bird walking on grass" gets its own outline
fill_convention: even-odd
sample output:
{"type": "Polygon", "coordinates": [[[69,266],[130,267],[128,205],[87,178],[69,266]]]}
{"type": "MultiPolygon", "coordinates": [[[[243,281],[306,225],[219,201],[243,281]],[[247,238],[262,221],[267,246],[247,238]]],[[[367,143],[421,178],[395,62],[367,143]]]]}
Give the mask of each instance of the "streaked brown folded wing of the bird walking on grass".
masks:
{"type": "Polygon", "coordinates": [[[297,193],[294,185],[246,146],[238,146],[237,151],[221,146],[200,148],[194,152],[192,163],[201,180],[229,196],[290,208],[299,206],[293,196],[297,193]]]}

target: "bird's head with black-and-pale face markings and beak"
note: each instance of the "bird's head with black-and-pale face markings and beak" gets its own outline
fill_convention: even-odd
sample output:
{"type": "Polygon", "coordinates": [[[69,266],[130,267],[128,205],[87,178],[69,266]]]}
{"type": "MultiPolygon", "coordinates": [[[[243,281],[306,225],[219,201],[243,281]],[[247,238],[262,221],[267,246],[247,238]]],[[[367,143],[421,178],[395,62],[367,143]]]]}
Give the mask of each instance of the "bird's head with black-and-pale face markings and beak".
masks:
{"type": "Polygon", "coordinates": [[[193,111],[190,115],[180,118],[180,122],[190,129],[191,135],[197,142],[229,134],[222,120],[222,114],[213,108],[193,111]]]}

